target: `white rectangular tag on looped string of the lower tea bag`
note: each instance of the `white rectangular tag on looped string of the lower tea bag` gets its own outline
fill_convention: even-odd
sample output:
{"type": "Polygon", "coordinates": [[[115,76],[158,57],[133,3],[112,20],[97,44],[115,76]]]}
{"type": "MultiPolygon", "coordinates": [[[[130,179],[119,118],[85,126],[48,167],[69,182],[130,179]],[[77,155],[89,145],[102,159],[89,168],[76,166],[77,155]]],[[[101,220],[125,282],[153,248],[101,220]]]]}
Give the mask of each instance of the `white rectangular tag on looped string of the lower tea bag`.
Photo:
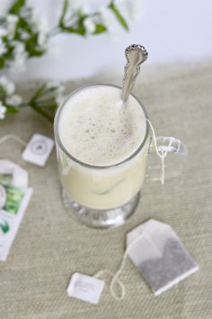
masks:
{"type": "Polygon", "coordinates": [[[75,272],[71,277],[66,291],[68,296],[73,296],[77,299],[97,305],[103,287],[103,280],[75,272]]]}

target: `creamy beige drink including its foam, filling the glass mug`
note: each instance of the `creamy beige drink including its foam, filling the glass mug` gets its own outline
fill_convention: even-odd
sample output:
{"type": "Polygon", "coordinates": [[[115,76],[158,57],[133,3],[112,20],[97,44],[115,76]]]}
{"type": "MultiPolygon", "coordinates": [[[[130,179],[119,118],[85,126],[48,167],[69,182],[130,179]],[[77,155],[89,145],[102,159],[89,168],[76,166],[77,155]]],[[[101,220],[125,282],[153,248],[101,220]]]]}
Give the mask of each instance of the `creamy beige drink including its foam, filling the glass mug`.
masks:
{"type": "Polygon", "coordinates": [[[146,115],[133,96],[123,106],[117,87],[93,86],[76,92],[61,110],[58,135],[72,157],[95,167],[81,165],[57,148],[62,186],[81,205],[118,207],[142,187],[148,139],[127,160],[146,136],[146,115]]]}

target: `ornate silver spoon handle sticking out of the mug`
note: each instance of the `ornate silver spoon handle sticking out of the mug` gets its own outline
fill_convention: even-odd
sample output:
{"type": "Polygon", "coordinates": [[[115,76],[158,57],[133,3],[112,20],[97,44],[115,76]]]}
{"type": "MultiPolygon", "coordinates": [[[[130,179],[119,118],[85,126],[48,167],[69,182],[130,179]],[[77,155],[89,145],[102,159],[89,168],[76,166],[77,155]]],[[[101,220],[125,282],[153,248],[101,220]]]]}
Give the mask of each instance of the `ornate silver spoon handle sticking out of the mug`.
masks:
{"type": "Polygon", "coordinates": [[[121,93],[121,100],[124,104],[128,101],[132,88],[135,85],[137,75],[140,72],[141,63],[148,58],[148,52],[145,47],[140,44],[132,44],[125,50],[127,64],[125,66],[125,74],[123,78],[123,88],[121,93]]]}

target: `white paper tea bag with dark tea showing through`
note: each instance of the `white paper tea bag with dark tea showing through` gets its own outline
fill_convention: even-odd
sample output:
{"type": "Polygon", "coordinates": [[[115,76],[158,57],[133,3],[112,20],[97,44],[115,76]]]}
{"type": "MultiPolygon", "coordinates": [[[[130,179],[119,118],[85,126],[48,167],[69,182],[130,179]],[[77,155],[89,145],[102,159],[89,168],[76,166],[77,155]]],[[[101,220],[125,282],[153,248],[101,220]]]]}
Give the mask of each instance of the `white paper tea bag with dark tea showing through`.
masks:
{"type": "Polygon", "coordinates": [[[155,296],[196,272],[199,267],[167,223],[151,219],[128,232],[128,257],[155,296]],[[137,238],[139,236],[139,238],[137,238]]]}

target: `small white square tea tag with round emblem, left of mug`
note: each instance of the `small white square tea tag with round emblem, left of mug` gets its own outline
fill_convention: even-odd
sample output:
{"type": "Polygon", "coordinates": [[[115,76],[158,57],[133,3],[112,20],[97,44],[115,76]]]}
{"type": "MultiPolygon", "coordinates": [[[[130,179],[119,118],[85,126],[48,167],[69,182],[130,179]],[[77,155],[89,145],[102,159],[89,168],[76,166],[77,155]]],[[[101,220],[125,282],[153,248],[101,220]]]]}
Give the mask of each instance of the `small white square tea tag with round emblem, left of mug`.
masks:
{"type": "Polygon", "coordinates": [[[38,166],[44,166],[49,159],[54,141],[47,136],[34,134],[22,153],[22,159],[38,166]]]}

